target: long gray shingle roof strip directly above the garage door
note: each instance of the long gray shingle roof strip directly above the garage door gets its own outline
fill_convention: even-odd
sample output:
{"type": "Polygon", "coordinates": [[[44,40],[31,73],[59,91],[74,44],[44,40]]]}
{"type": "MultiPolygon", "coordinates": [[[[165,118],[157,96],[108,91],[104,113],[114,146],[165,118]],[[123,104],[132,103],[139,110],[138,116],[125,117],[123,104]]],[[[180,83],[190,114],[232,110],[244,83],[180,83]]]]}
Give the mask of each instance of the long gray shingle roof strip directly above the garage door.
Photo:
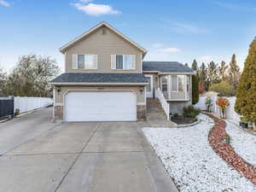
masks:
{"type": "Polygon", "coordinates": [[[62,73],[51,83],[147,83],[140,73],[62,73]]]}

